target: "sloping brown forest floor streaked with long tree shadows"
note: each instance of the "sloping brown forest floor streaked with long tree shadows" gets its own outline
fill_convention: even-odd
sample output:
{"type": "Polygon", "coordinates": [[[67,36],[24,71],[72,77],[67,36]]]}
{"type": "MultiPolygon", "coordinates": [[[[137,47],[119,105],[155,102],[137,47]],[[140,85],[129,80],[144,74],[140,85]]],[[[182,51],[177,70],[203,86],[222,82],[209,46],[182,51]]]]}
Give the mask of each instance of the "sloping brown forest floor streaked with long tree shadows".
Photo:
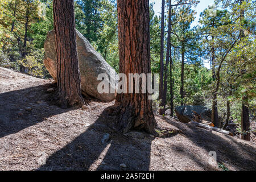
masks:
{"type": "Polygon", "coordinates": [[[86,110],[61,109],[47,101],[52,82],[0,68],[0,170],[256,169],[254,142],[159,115],[160,126],[178,132],[122,135],[109,127],[114,118],[106,113],[114,101],[90,99],[86,110]],[[110,139],[102,143],[106,133],[110,139]]]}

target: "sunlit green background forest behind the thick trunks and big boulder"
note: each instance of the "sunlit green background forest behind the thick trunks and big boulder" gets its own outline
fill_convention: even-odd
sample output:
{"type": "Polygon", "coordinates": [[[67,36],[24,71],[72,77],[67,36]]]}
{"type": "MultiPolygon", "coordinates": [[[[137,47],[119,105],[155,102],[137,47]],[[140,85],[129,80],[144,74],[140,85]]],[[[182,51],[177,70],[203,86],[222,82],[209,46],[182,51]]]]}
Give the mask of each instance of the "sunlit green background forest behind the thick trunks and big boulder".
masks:
{"type": "MultiPolygon", "coordinates": [[[[165,103],[160,100],[155,106],[159,109],[160,102],[160,109],[164,108],[164,113],[170,109],[173,115],[175,106],[211,108],[214,102],[220,121],[233,118],[241,123],[241,99],[246,96],[250,117],[255,119],[255,1],[216,0],[216,9],[204,10],[196,27],[191,24],[199,1],[170,1],[164,1],[164,16],[156,14],[150,4],[151,70],[160,75],[162,72],[166,84],[165,103]],[[210,69],[205,68],[204,61],[210,63],[210,69]]],[[[53,30],[52,1],[0,3],[0,66],[51,78],[43,59],[47,32],[53,30]]],[[[118,72],[116,2],[75,1],[75,18],[77,30],[118,72]]]]}

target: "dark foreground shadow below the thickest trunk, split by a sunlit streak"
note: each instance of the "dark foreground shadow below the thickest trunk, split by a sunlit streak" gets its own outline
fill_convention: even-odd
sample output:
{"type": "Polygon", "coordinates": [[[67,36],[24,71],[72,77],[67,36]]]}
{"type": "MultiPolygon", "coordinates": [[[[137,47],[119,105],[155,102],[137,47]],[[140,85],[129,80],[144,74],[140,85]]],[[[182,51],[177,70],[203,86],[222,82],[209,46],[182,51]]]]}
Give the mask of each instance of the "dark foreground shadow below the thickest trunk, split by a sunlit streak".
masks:
{"type": "Polygon", "coordinates": [[[123,135],[114,130],[109,123],[113,125],[115,117],[108,109],[79,137],[49,156],[38,170],[149,170],[150,135],[136,131],[123,135]],[[110,139],[102,143],[106,133],[110,139]]]}

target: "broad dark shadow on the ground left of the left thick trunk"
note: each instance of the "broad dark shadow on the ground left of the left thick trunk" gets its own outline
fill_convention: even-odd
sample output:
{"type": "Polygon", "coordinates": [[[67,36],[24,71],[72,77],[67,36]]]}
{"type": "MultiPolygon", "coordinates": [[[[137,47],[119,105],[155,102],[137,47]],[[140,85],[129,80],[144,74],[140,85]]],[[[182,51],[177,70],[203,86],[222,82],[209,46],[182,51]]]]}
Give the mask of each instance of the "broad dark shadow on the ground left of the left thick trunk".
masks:
{"type": "Polygon", "coordinates": [[[49,104],[48,88],[54,84],[34,86],[0,94],[0,138],[18,133],[52,115],[71,109],[61,109],[49,104]],[[30,108],[28,108],[30,107],[30,108]]]}

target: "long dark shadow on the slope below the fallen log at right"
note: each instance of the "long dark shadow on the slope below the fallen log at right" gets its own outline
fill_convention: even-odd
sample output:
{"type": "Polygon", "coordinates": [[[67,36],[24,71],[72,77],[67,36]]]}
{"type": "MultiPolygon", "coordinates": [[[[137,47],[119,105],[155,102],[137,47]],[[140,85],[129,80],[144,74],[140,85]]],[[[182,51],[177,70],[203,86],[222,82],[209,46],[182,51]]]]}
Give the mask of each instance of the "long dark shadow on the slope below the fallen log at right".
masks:
{"type": "Polygon", "coordinates": [[[256,169],[256,148],[243,144],[242,140],[238,142],[238,140],[235,140],[229,135],[225,135],[224,137],[231,141],[224,140],[219,135],[205,129],[199,129],[192,125],[184,125],[183,123],[166,119],[169,123],[182,130],[196,146],[208,152],[216,151],[217,163],[229,162],[233,167],[240,170],[256,169]]]}

